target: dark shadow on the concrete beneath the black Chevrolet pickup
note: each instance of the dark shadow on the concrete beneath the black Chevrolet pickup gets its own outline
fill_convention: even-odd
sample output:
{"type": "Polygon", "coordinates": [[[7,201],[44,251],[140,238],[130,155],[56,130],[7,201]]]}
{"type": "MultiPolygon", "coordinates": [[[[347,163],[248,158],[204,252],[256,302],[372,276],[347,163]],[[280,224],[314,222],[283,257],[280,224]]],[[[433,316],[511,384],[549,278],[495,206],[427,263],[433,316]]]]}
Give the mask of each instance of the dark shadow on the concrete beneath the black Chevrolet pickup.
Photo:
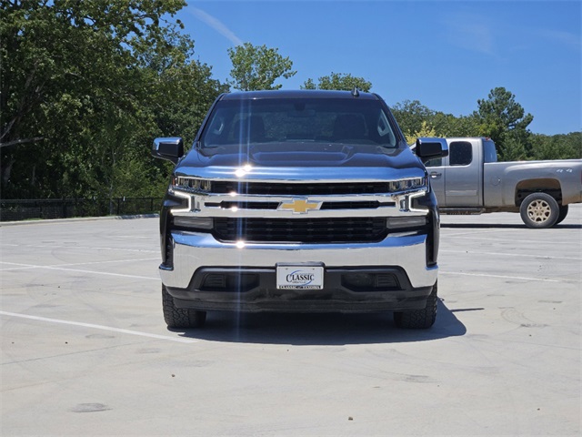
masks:
{"type": "Polygon", "coordinates": [[[345,345],[398,343],[464,335],[463,323],[442,301],[429,330],[396,328],[392,313],[291,314],[209,312],[201,330],[172,330],[181,336],[210,341],[263,344],[345,345]]]}

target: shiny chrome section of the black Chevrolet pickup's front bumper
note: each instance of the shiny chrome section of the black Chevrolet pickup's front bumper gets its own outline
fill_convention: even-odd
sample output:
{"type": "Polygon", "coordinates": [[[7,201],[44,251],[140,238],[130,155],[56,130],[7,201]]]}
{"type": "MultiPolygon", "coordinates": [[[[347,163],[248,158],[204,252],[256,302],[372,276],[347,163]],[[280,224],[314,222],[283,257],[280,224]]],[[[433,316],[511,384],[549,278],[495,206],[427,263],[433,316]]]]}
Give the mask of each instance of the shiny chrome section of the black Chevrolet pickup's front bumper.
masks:
{"type": "Polygon", "coordinates": [[[393,234],[365,244],[232,244],[210,234],[172,231],[174,266],[160,266],[166,287],[186,289],[202,267],[275,267],[277,263],[322,262],[326,268],[398,266],[414,288],[432,287],[438,267],[426,267],[426,235],[393,234]]]}

